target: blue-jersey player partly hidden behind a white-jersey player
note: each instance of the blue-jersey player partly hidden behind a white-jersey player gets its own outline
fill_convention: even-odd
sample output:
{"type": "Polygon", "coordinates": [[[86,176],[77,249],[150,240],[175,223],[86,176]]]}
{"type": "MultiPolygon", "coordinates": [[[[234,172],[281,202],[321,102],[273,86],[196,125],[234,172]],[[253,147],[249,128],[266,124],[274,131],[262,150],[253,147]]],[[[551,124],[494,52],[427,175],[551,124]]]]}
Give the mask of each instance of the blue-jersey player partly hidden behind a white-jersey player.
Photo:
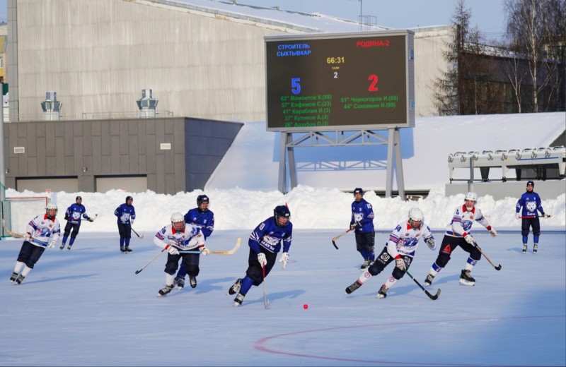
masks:
{"type": "MultiPolygon", "coordinates": [[[[198,195],[197,207],[189,210],[187,214],[185,214],[185,222],[200,228],[205,240],[208,239],[212,231],[214,231],[214,213],[208,209],[209,205],[210,200],[207,195],[198,195]]],[[[178,289],[185,287],[185,275],[187,275],[187,268],[185,267],[185,263],[181,263],[177,276],[175,277],[175,284],[177,284],[178,289]]],[[[191,288],[197,287],[197,277],[191,277],[189,275],[189,284],[191,288]]]]}

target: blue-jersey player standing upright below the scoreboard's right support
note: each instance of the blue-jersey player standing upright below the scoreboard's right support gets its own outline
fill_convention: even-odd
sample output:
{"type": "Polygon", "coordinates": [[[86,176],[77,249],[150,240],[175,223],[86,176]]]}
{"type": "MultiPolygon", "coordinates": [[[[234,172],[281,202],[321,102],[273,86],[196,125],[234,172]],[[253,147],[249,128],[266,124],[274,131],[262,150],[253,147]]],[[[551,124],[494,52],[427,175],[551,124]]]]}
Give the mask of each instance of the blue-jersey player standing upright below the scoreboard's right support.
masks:
{"type": "Polygon", "coordinates": [[[360,269],[364,270],[375,260],[376,233],[374,231],[374,209],[364,199],[364,191],[359,187],[354,188],[350,230],[354,231],[356,235],[356,249],[364,258],[364,263],[360,269]]]}

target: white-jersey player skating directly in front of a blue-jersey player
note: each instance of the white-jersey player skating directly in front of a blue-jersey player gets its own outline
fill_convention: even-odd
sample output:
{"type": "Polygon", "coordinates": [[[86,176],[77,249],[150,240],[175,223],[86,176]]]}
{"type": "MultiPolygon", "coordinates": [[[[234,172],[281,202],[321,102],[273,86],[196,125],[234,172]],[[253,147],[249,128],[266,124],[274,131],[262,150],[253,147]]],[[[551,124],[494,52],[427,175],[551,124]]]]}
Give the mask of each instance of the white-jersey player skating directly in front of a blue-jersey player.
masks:
{"type": "Polygon", "coordinates": [[[165,296],[173,289],[179,260],[183,260],[189,277],[195,278],[196,287],[197,275],[200,272],[200,253],[203,255],[210,253],[208,248],[204,246],[204,235],[200,228],[185,223],[185,217],[180,212],[174,212],[171,215],[171,225],[166,225],[156,233],[154,243],[169,253],[164,270],[166,272],[165,287],[159,290],[158,295],[165,296]],[[200,253],[184,252],[191,250],[200,251],[200,253]]]}

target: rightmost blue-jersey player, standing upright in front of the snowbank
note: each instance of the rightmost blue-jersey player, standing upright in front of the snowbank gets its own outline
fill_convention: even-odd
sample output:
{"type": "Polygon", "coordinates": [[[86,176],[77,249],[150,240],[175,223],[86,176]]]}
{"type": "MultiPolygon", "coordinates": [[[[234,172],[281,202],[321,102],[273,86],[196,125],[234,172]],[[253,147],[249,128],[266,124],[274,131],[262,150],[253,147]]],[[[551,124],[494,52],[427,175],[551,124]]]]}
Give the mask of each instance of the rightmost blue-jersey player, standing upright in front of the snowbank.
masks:
{"type": "Polygon", "coordinates": [[[538,251],[538,237],[541,236],[541,222],[538,220],[538,212],[541,212],[543,217],[550,217],[550,215],[545,214],[543,205],[541,204],[541,197],[538,193],[533,191],[534,188],[535,183],[533,181],[527,181],[526,193],[521,195],[516,205],[517,219],[522,219],[521,236],[523,236],[523,253],[526,253],[531,227],[533,228],[533,253],[538,251]]]}

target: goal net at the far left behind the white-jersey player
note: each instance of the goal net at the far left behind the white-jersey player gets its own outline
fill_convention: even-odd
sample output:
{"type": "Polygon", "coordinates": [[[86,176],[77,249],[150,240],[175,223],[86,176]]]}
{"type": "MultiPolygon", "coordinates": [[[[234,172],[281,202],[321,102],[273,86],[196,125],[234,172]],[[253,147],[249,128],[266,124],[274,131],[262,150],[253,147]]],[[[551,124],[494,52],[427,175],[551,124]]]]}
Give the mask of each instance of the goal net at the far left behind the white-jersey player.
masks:
{"type": "Polygon", "coordinates": [[[45,214],[50,198],[47,196],[14,196],[6,198],[11,216],[6,215],[6,226],[13,232],[24,233],[25,227],[36,215],[45,214]]]}

